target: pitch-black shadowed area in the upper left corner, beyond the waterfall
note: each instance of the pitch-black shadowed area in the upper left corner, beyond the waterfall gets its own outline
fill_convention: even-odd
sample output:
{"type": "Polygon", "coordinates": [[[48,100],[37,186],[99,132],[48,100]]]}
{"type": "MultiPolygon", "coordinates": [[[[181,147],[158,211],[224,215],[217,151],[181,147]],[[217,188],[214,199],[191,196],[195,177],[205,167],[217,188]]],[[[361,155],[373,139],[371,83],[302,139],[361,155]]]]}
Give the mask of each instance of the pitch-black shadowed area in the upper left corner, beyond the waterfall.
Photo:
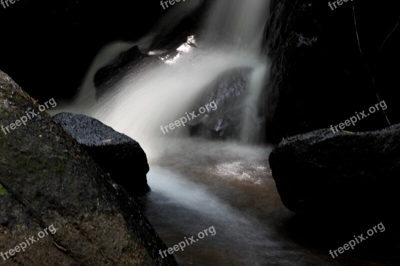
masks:
{"type": "Polygon", "coordinates": [[[39,101],[71,97],[104,44],[139,38],[165,11],[158,0],[0,5],[0,69],[39,101]]]}

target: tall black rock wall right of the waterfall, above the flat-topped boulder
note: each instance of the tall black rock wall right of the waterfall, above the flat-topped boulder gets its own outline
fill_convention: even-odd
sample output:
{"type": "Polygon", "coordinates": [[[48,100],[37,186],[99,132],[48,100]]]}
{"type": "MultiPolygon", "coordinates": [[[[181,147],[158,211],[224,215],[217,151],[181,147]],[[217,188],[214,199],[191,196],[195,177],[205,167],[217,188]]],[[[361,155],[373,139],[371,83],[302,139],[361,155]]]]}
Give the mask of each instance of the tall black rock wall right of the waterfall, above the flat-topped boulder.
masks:
{"type": "MultiPolygon", "coordinates": [[[[391,124],[399,123],[400,2],[272,0],[265,47],[272,60],[267,136],[283,137],[336,125],[385,100],[391,124]],[[357,34],[354,24],[355,21],[357,34]],[[371,16],[371,14],[373,14],[371,16]],[[387,38],[387,39],[386,39],[387,38]],[[382,45],[383,44],[383,45],[382,45]],[[373,79],[373,82],[372,82],[373,79]]],[[[350,131],[387,127],[383,112],[350,131]]]]}

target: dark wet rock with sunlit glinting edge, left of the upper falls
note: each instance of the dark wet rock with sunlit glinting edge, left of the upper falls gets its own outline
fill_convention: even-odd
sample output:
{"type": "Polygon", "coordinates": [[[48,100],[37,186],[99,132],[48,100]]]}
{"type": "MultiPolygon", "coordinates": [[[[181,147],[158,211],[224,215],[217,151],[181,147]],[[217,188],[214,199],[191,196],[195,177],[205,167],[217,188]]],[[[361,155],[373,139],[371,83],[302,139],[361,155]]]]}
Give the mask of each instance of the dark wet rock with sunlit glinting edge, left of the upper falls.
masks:
{"type": "MultiPolygon", "coordinates": [[[[162,17],[154,30],[154,38],[148,49],[133,46],[121,52],[109,65],[99,69],[94,76],[96,97],[101,98],[110,93],[111,88],[118,82],[130,81],[144,72],[154,69],[158,64],[164,64],[165,60],[174,58],[179,54],[177,51],[181,45],[196,47],[195,39],[199,32],[200,22],[211,4],[209,0],[196,0],[190,3],[190,7],[174,6],[176,22],[162,17]],[[179,9],[180,8],[180,9],[179,9]]],[[[161,8],[162,9],[162,8],[161,8]]]]}

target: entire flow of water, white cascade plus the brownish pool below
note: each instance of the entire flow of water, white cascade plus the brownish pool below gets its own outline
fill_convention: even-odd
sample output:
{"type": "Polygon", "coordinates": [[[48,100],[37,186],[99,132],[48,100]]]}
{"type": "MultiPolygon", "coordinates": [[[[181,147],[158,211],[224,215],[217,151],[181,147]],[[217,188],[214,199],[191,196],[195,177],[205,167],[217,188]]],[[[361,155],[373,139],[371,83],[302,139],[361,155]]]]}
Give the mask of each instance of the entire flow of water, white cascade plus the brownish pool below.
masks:
{"type": "Polygon", "coordinates": [[[171,11],[161,26],[138,43],[105,47],[93,61],[75,103],[58,111],[93,116],[140,143],[149,161],[147,180],[152,189],[142,199],[144,212],[169,247],[214,226],[215,236],[174,254],[179,264],[265,265],[271,261],[292,265],[286,258],[303,254],[274,233],[278,231],[275,224],[282,222],[287,211],[268,171],[270,150],[245,144],[259,139],[262,132],[257,106],[269,72],[260,53],[268,0],[213,1],[201,36],[187,36],[187,43],[174,54],[159,55],[163,64],[129,70],[95,99],[93,77],[100,67],[133,45],[142,53],[162,54],[148,50],[156,31],[176,25],[200,3],[175,4],[180,12],[171,11]],[[250,69],[240,103],[244,111],[239,115],[239,142],[189,138],[187,127],[162,134],[160,125],[173,123],[196,105],[204,106],[207,102],[199,99],[210,90],[209,84],[235,69],[250,69]],[[280,215],[275,215],[276,210],[280,215]]]}

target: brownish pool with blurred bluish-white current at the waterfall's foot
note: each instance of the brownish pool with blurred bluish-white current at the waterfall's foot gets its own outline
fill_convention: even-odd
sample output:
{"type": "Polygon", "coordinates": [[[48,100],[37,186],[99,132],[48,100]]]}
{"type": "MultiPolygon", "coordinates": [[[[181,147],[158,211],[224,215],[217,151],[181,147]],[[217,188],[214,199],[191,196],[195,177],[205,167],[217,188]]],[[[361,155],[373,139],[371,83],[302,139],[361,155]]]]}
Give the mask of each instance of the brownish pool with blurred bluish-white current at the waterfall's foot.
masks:
{"type": "MultiPolygon", "coordinates": [[[[202,139],[174,139],[149,156],[151,192],[146,217],[169,248],[213,226],[183,251],[182,266],[378,265],[333,260],[328,251],[294,243],[287,223],[294,215],[281,203],[268,165],[267,146],[202,139]]],[[[189,242],[190,243],[190,242],[189,242]]],[[[168,255],[171,256],[171,255],[168,255]]]]}

